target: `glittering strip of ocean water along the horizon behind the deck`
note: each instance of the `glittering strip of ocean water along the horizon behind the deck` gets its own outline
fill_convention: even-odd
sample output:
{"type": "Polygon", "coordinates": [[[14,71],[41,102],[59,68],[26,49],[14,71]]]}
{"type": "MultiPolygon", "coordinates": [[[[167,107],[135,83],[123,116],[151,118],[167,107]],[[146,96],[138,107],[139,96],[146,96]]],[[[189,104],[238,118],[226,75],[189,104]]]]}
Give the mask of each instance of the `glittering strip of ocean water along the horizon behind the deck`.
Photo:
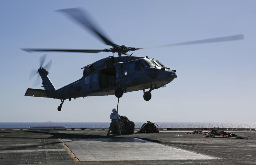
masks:
{"type": "MultiPolygon", "coordinates": [[[[145,122],[134,122],[141,128],[145,122]]],[[[65,126],[66,128],[109,128],[110,122],[0,122],[0,128],[29,128],[30,126],[65,126]]],[[[256,123],[155,122],[160,128],[256,128],[256,123]]]]}

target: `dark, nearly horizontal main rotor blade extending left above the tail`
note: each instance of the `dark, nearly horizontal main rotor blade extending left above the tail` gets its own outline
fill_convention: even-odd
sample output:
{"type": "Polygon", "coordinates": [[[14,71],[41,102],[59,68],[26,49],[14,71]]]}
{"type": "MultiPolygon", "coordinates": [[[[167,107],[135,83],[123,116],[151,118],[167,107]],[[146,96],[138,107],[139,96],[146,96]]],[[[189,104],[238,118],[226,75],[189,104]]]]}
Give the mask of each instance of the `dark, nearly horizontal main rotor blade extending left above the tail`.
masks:
{"type": "Polygon", "coordinates": [[[104,52],[103,50],[90,50],[90,49],[27,49],[27,48],[22,48],[21,50],[24,50],[26,52],[81,52],[81,53],[99,53],[99,52],[104,52]]]}

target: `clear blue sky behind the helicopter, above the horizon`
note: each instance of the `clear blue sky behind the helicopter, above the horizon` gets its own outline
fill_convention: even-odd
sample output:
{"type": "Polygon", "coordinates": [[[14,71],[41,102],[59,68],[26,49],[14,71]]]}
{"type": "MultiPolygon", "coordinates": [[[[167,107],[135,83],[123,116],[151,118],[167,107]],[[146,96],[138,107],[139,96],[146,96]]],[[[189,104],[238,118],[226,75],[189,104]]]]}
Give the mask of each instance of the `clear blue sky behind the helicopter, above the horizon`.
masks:
{"type": "MultiPolygon", "coordinates": [[[[0,122],[107,122],[113,96],[66,100],[25,97],[44,53],[20,48],[105,49],[89,31],[55,10],[83,7],[116,44],[148,47],[243,33],[244,40],[135,51],[176,69],[165,88],[125,93],[119,114],[131,121],[255,122],[256,1],[0,1],[0,122]]],[[[111,53],[48,53],[49,78],[60,88],[83,66],[111,53]]],[[[42,89],[40,86],[35,88],[42,89]]]]}

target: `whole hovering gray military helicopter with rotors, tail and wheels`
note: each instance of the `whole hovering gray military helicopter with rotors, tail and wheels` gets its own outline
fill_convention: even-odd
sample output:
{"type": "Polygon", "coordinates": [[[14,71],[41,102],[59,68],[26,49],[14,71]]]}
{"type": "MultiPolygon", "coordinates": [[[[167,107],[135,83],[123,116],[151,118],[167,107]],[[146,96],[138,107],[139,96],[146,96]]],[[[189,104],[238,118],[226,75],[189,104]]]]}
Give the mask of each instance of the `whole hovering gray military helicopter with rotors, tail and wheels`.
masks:
{"type": "Polygon", "coordinates": [[[132,56],[130,51],[148,48],[159,48],[166,46],[179,46],[191,44],[203,44],[223,41],[234,41],[244,39],[243,34],[218,37],[204,40],[195,40],[183,43],[168,44],[161,46],[152,46],[145,48],[127,47],[125,45],[116,45],[106,38],[102,32],[91,22],[88,14],[82,8],[71,8],[57,10],[66,14],[71,20],[80,24],[83,28],[89,29],[94,35],[98,36],[106,45],[112,46],[109,49],[40,49],[40,48],[22,48],[26,52],[80,52],[80,53],[98,53],[111,52],[109,56],[98,60],[92,64],[82,67],[83,76],[77,81],[70,83],[59,89],[55,89],[49,77],[49,68],[51,61],[43,66],[46,54],[40,58],[40,67],[32,70],[30,78],[38,74],[42,79],[42,89],[28,88],[25,96],[45,97],[60,99],[58,111],[61,111],[62,105],[66,99],[76,99],[87,96],[106,96],[115,95],[118,99],[125,92],[143,90],[143,99],[151,99],[151,91],[166,87],[166,84],[177,78],[176,70],[164,66],[160,61],[150,59],[149,57],[132,56]],[[114,56],[118,53],[118,56],[114,56]],[[47,70],[48,69],[48,70],[47,70]],[[145,92],[146,89],[149,89],[145,92]]]}

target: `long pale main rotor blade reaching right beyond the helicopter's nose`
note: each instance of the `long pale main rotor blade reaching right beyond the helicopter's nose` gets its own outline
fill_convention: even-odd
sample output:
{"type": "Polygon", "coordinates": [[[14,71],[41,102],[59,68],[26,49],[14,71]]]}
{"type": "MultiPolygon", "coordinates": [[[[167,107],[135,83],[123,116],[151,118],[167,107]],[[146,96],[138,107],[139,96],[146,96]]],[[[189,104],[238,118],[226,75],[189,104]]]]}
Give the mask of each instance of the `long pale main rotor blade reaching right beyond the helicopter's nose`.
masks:
{"type": "Polygon", "coordinates": [[[211,39],[205,39],[205,40],[196,40],[196,41],[189,41],[189,42],[168,44],[168,45],[160,45],[160,46],[152,46],[152,47],[138,48],[138,49],[149,49],[149,48],[160,48],[160,47],[167,47],[167,46],[180,46],[180,45],[193,45],[193,44],[205,44],[205,43],[235,41],[235,40],[243,40],[243,39],[244,39],[243,34],[239,34],[239,35],[234,35],[234,36],[218,37],[218,38],[211,38],[211,39]]]}

